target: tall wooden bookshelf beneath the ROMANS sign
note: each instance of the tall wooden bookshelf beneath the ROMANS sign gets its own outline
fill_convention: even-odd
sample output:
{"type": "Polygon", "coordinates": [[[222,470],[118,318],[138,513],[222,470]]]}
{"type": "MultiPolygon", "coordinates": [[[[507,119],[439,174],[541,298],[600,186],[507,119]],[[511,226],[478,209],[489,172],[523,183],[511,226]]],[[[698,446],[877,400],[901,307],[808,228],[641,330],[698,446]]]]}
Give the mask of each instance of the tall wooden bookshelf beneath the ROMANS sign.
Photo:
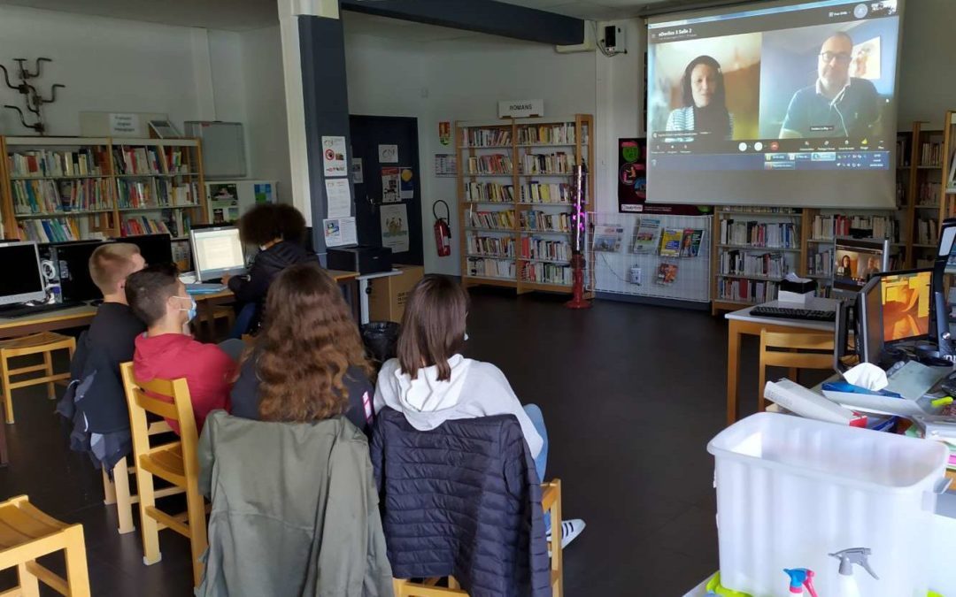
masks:
{"type": "MultiPolygon", "coordinates": [[[[594,118],[459,121],[455,144],[464,284],[571,292],[572,180],[594,118]]],[[[590,176],[586,194],[590,210],[590,176]]]]}

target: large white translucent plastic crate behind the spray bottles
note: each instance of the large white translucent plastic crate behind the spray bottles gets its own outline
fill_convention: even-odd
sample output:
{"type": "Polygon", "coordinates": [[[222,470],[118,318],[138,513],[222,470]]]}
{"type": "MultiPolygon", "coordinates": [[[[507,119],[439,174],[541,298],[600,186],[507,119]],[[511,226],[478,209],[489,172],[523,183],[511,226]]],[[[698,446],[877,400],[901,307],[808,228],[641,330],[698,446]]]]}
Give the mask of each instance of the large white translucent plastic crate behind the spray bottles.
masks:
{"type": "MultiPolygon", "coordinates": [[[[820,595],[836,594],[827,554],[870,547],[876,581],[855,570],[866,597],[925,597],[936,492],[945,446],[797,416],[749,416],[714,437],[724,586],[788,597],[783,568],[810,568],[820,595]]],[[[859,568],[859,566],[855,566],[859,568]]]]}

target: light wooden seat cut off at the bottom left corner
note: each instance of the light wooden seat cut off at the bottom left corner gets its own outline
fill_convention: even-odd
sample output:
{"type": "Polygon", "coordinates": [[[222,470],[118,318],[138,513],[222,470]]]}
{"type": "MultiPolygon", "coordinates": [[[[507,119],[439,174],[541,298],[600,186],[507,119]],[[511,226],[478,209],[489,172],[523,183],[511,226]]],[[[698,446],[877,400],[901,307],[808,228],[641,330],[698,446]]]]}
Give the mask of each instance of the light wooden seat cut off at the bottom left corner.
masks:
{"type": "Polygon", "coordinates": [[[13,566],[19,586],[5,591],[5,596],[39,597],[40,582],[67,597],[90,595],[82,525],[47,516],[33,507],[27,496],[0,503],[0,570],[13,566]],[[61,549],[66,556],[66,579],[36,562],[61,549]]]}

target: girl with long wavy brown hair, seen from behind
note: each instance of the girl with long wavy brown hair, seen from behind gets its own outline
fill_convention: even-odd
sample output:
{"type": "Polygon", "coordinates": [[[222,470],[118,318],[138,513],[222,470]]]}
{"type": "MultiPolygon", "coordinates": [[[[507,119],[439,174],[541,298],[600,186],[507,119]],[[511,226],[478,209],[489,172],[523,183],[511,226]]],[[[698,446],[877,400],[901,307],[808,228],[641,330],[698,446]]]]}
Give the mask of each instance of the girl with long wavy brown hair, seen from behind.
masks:
{"type": "Polygon", "coordinates": [[[314,264],[287,267],[266,307],[232,387],[232,415],[286,422],[345,415],[369,435],[372,368],[335,280],[314,264]]]}

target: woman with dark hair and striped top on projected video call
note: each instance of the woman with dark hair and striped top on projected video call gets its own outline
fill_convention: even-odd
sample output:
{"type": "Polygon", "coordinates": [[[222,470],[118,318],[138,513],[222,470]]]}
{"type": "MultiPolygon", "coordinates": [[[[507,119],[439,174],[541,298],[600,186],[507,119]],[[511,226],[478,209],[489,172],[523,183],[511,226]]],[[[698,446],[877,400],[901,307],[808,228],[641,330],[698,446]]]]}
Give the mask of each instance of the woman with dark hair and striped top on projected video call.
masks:
{"type": "Polygon", "coordinates": [[[727,109],[720,63],[708,55],[697,56],[684,69],[681,81],[684,107],[670,113],[666,130],[711,133],[731,139],[733,116],[727,109]]]}

